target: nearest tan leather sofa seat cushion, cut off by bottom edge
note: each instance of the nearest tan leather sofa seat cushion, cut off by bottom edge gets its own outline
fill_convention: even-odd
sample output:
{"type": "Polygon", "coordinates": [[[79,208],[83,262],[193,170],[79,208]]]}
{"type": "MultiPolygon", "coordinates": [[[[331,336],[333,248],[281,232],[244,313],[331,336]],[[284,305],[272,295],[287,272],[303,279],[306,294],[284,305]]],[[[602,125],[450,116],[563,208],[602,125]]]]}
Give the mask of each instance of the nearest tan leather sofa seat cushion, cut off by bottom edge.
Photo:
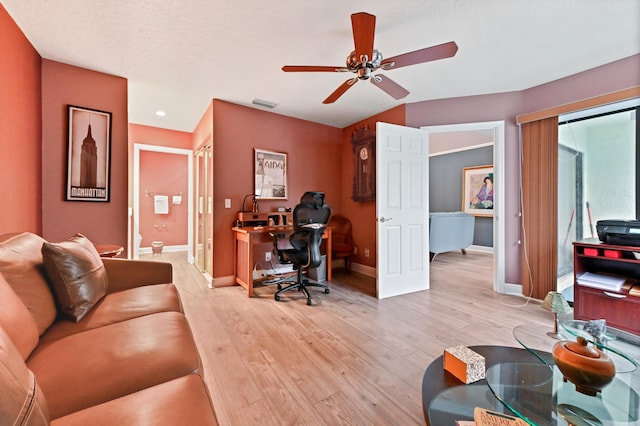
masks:
{"type": "Polygon", "coordinates": [[[217,425],[200,376],[190,374],[60,417],[51,426],[217,425]]]}

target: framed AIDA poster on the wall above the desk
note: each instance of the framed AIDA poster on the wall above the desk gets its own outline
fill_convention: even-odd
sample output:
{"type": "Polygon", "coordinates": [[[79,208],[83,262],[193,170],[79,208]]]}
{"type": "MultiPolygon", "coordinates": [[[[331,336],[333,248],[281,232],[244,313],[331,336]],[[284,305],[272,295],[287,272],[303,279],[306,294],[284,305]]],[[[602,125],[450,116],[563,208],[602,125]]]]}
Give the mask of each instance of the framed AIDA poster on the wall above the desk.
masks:
{"type": "Polygon", "coordinates": [[[254,148],[254,194],[261,200],[287,199],[287,154],[254,148]]]}

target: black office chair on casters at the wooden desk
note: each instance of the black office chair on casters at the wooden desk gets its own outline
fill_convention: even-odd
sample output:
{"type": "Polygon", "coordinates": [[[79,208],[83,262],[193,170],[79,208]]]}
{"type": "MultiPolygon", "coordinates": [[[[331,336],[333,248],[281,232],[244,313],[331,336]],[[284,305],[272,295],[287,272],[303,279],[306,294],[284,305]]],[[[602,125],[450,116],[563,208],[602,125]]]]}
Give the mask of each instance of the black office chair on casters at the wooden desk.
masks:
{"type": "Polygon", "coordinates": [[[272,233],[273,252],[280,263],[292,263],[297,271],[296,281],[286,287],[278,284],[274,298],[279,301],[285,291],[297,289],[304,292],[307,305],[311,305],[311,295],[307,287],[321,287],[329,294],[325,284],[310,282],[303,275],[306,268],[317,268],[322,263],[320,244],[322,234],[329,223],[331,207],[324,204],[323,192],[305,192],[300,204],[293,209],[293,233],[288,240],[284,233],[272,233]]]}

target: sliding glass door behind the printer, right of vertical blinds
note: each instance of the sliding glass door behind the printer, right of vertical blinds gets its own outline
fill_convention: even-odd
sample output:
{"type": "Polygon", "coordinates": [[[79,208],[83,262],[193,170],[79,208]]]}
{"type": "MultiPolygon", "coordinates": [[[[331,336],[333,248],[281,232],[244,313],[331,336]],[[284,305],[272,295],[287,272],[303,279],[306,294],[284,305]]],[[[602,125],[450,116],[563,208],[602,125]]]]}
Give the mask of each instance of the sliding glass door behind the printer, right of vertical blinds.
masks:
{"type": "Polygon", "coordinates": [[[559,119],[559,291],[573,284],[573,241],[597,239],[599,220],[640,219],[638,109],[559,119]]]}

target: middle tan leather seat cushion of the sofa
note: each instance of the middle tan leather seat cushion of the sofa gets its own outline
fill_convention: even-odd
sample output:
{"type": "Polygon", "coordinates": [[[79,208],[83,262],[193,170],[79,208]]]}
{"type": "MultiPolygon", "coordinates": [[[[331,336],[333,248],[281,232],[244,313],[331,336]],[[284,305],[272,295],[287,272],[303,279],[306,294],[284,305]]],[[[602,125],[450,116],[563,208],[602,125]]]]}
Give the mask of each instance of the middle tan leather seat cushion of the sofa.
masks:
{"type": "Polygon", "coordinates": [[[40,343],[27,359],[52,418],[199,371],[185,316],[161,312],[40,343]]]}

